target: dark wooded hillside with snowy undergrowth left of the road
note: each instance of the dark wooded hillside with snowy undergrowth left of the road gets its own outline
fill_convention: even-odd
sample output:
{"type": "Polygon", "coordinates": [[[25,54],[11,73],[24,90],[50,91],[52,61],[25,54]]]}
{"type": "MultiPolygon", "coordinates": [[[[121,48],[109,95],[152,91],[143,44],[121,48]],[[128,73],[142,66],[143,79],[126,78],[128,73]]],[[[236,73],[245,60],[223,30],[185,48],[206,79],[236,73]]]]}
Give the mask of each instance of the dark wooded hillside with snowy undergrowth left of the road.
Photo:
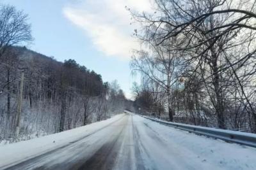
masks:
{"type": "Polygon", "coordinates": [[[32,41],[28,15],[0,5],[0,141],[66,131],[132,107],[117,80],[22,46],[32,41]]]}

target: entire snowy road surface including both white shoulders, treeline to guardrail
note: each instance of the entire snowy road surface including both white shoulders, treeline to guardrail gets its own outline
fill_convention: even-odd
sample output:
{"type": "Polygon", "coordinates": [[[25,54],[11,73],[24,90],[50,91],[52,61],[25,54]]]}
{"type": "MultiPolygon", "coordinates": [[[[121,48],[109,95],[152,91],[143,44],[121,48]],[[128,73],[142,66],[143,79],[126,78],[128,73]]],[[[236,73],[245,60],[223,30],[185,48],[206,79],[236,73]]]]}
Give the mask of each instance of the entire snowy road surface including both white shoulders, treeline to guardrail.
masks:
{"type": "Polygon", "coordinates": [[[0,169],[256,169],[256,149],[122,114],[0,147],[0,169]]]}

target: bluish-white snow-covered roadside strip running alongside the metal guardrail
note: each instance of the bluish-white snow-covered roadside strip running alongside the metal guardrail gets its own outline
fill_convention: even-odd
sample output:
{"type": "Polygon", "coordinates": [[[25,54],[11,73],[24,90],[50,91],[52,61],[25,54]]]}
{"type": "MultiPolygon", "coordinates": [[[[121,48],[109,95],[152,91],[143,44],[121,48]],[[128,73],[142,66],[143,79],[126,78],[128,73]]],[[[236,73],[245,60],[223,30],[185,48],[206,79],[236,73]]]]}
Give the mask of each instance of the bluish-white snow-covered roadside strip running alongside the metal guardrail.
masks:
{"type": "Polygon", "coordinates": [[[170,164],[164,164],[164,159],[166,162],[172,160],[173,169],[256,169],[256,148],[198,136],[138,115],[134,116],[134,120],[145,124],[138,129],[140,136],[143,137],[141,150],[150,148],[149,155],[159,155],[152,159],[153,163],[151,162],[157,162],[156,169],[170,167],[170,164]],[[148,129],[156,134],[158,141],[162,141],[163,149],[154,146],[154,140],[148,137],[148,129]]]}

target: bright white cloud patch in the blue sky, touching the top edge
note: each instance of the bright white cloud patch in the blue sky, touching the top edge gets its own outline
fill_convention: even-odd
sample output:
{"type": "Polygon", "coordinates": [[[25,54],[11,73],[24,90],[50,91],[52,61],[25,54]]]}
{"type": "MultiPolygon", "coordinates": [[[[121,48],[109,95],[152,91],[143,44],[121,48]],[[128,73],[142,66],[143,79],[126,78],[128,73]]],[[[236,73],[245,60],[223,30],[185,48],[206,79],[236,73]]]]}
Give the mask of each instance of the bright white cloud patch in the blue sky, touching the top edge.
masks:
{"type": "Polygon", "coordinates": [[[107,56],[130,59],[139,44],[131,37],[134,27],[125,6],[138,11],[150,10],[149,0],[82,1],[63,9],[65,17],[83,29],[93,44],[107,56]]]}

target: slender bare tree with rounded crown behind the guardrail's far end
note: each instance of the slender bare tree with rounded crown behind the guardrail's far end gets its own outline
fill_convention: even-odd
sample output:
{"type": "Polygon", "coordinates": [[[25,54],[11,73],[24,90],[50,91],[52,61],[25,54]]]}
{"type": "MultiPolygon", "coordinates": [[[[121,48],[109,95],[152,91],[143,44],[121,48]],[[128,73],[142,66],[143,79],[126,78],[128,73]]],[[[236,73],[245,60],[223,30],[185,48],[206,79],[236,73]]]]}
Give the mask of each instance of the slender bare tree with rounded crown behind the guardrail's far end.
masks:
{"type": "MultiPolygon", "coordinates": [[[[175,43],[176,39],[171,40],[175,43]]],[[[146,41],[148,43],[148,41],[146,41]]],[[[180,53],[172,51],[168,45],[148,43],[151,51],[138,51],[132,57],[131,68],[133,72],[139,72],[143,78],[147,78],[161,87],[167,96],[168,113],[170,121],[173,121],[175,110],[173,108],[172,87],[179,82],[184,73],[183,58],[180,53]]]]}

